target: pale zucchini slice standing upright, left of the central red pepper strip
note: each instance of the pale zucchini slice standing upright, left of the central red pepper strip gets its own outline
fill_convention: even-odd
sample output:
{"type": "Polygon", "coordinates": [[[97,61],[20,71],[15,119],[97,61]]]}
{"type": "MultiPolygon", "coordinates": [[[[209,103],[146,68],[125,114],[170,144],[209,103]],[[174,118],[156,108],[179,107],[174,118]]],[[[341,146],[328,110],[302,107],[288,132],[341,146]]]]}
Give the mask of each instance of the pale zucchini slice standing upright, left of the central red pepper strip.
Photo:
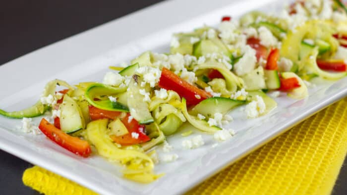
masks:
{"type": "Polygon", "coordinates": [[[140,124],[149,124],[153,123],[154,119],[151,115],[151,112],[148,108],[148,103],[143,101],[144,96],[140,94],[140,78],[137,75],[134,75],[133,78],[131,78],[131,81],[129,83],[129,91],[127,92],[129,98],[128,98],[128,106],[130,110],[131,116],[134,117],[140,124]],[[134,79],[134,76],[136,76],[136,81],[134,79]]]}

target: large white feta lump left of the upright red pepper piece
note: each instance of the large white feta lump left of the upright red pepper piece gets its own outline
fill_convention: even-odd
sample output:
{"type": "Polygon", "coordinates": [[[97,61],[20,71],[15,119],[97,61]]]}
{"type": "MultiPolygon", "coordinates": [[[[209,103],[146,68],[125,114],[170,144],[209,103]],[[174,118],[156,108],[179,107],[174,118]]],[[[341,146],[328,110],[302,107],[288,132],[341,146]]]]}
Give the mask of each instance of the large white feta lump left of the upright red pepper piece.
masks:
{"type": "Polygon", "coordinates": [[[234,71],[238,76],[243,76],[254,70],[257,57],[256,51],[250,46],[245,46],[243,56],[234,64],[234,71]]]}

